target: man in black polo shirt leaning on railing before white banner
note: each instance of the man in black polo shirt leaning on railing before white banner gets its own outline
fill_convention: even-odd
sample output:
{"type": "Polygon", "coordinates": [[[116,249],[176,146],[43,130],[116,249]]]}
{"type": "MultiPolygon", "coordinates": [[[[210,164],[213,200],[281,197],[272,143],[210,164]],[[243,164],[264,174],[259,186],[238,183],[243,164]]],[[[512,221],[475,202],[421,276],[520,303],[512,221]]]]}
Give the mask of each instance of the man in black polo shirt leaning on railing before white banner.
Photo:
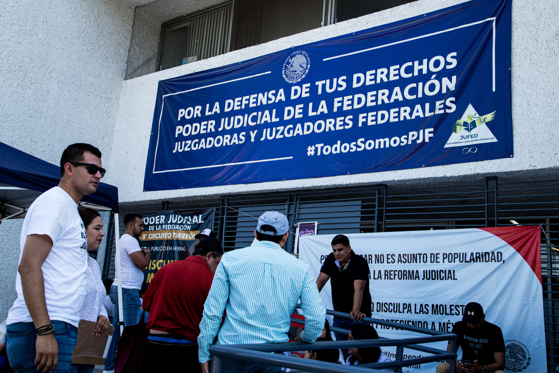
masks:
{"type": "MultiPolygon", "coordinates": [[[[334,327],[350,329],[353,324],[371,317],[371,293],[369,293],[369,265],[361,256],[353,252],[349,239],[338,234],[332,240],[332,251],[324,260],[320,275],[316,280],[321,291],[329,278],[332,286],[334,310],[349,313],[353,320],[334,317],[334,327]]],[[[335,333],[338,341],[347,336],[335,333]]],[[[344,354],[345,355],[345,354],[344,354]]]]}

